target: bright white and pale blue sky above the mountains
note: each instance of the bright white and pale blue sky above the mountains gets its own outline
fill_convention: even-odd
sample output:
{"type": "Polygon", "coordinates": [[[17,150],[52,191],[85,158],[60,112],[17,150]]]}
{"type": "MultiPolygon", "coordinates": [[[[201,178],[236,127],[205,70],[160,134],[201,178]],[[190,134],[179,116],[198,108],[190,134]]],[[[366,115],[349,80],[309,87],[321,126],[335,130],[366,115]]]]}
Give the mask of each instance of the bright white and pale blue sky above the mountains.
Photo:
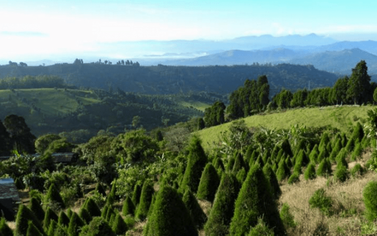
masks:
{"type": "Polygon", "coordinates": [[[101,44],[315,33],[377,40],[377,1],[0,0],[0,54],[14,60],[100,53],[101,44]]]}

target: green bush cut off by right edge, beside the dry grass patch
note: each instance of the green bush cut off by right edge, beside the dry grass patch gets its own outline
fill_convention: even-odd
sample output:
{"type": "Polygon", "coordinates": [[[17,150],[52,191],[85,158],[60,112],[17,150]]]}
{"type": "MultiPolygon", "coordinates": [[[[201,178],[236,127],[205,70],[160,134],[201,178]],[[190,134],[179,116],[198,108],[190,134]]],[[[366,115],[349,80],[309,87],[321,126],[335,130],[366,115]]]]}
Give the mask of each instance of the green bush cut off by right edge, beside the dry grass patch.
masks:
{"type": "Polygon", "coordinates": [[[377,181],[370,181],[366,184],[362,191],[362,197],[365,204],[365,217],[369,221],[373,221],[377,218],[377,198],[375,193],[377,192],[377,181]]]}

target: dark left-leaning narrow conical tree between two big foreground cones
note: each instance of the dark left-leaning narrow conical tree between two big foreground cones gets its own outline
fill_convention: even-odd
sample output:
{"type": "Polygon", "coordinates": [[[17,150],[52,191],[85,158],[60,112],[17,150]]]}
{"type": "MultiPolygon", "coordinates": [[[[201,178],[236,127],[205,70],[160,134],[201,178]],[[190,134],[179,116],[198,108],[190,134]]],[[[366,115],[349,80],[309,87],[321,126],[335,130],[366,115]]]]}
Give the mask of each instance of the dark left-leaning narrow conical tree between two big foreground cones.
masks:
{"type": "Polygon", "coordinates": [[[183,194],[182,201],[189,210],[191,218],[193,219],[194,225],[198,228],[202,228],[204,223],[207,221],[207,216],[200,207],[194,194],[187,189],[183,194]]]}

